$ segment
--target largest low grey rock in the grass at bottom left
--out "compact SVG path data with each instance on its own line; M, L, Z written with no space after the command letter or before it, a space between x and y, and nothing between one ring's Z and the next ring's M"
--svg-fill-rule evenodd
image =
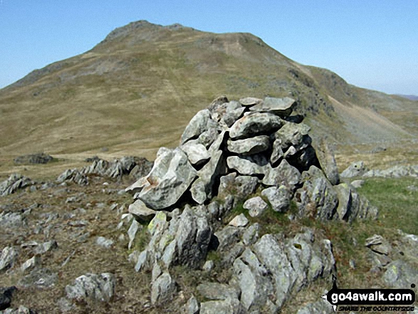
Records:
M75 278L72 285L66 286L66 295L69 299L108 302L115 294L115 283L112 273L86 273Z

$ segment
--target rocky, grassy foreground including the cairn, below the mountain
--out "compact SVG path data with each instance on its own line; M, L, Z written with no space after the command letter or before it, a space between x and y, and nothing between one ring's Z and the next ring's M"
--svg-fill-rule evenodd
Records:
M154 167L93 157L46 182L1 182L0 310L333 313L320 297L335 280L409 288L416 168L359 162L340 182L292 105L219 98Z

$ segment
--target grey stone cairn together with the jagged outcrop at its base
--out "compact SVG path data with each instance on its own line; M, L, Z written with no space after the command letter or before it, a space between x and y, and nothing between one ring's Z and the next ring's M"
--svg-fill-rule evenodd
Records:
M252 217L286 213L291 204L295 219L350 223L377 216L352 186L340 184L330 147L313 148L310 127L291 115L295 105L291 98L217 98L192 118L179 147L161 147L150 173L127 187L135 199L130 247L140 224L150 235L145 250L131 258L136 271L152 271L152 303L174 298L173 266L209 271L208 251L220 253L216 263L233 276L229 284L199 285L209 301L190 298L189 313L276 313L291 293L333 273L330 241L315 239L311 229L291 239L259 237L260 225L244 214L224 221L239 202L246 201Z

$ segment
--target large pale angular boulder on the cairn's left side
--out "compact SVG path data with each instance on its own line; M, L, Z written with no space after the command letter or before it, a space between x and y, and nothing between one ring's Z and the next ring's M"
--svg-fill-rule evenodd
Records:
M138 198L151 209L165 209L182 197L196 176L196 170L182 150L163 150L143 180Z

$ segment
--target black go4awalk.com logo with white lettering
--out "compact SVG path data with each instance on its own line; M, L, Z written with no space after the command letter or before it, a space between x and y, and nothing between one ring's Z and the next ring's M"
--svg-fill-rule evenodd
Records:
M412 289L339 289L334 281L333 288L323 298L335 311L412 312L415 293Z

